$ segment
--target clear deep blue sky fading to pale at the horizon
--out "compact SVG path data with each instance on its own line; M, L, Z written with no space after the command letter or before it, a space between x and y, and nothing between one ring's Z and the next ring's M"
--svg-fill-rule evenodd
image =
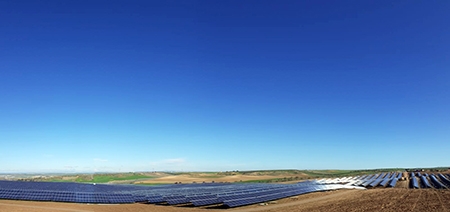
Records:
M0 1L0 172L450 166L450 1Z

